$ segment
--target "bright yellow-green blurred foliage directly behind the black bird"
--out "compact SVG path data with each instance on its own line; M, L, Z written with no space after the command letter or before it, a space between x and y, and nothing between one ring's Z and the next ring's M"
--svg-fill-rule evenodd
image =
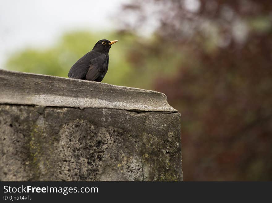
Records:
M15 53L6 63L9 70L47 74L67 77L70 67L84 54L91 51L94 44L101 38L115 40L112 33L74 32L62 36L52 47L44 50L25 49ZM130 63L126 61L126 49L133 44L135 36L123 36L112 46L109 52L109 69L103 82L126 85L126 77L132 72Z

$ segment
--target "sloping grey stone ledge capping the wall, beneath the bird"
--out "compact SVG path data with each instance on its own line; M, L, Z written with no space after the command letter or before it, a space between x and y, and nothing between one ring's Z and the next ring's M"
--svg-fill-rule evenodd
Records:
M0 104L177 112L156 91L7 70L0 70Z

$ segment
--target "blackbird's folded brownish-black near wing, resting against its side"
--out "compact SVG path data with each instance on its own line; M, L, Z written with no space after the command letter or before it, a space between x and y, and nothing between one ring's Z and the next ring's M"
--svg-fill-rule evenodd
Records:
M107 61L106 55L100 55L92 59L91 65L89 66L89 70L86 74L86 80L94 81L101 74L103 74L108 66L106 61Z

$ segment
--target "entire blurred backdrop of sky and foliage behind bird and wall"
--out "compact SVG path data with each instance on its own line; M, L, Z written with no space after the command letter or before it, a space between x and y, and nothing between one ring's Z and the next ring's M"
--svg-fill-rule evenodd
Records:
M0 68L67 77L119 40L103 82L181 113L185 181L272 180L272 1L1 1Z

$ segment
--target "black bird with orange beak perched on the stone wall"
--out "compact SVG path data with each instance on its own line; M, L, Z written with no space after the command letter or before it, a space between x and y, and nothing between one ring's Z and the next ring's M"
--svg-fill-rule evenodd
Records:
M94 48L70 69L69 78L101 82L108 70L108 52L118 40L99 40Z

